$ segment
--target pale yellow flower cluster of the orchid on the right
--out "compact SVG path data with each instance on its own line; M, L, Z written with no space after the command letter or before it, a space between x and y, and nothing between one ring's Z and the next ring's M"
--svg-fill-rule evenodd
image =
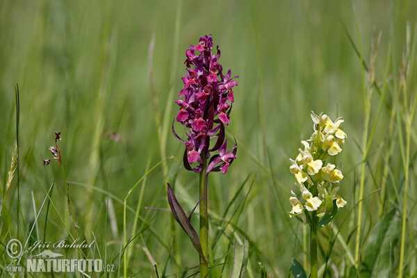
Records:
M290 197L292 210L290 217L300 215L305 222L304 210L318 211L318 216L332 213L332 202L336 200L336 206L345 206L346 201L336 195L339 187L338 183L343 179L341 169L336 165L327 163L325 160L329 156L336 156L342 149L347 138L346 133L340 127L343 120L339 117L332 122L329 116L311 113L314 132L311 138L302 141L303 149L299 149L295 160L290 158L290 172L297 180L297 186L301 191L301 198L291 190Z

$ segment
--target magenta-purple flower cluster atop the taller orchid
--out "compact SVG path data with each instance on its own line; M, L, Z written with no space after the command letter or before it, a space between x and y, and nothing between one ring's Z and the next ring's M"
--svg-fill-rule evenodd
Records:
M231 106L234 95L231 90L238 85L231 77L231 70L222 74L222 65L218 63L220 49L212 54L213 38L211 35L199 39L199 44L186 51L187 75L183 76L184 87L179 92L176 103L179 113L175 120L181 122L190 133L186 133L188 140L177 136L172 126L174 136L186 145L183 163L187 170L201 172L205 161L210 158L210 152L219 151L211 157L207 172L227 172L230 163L236 158L237 146L227 151L227 140L224 140L224 125L230 122ZM215 139L210 148L210 140ZM198 163L192 167L193 163Z

